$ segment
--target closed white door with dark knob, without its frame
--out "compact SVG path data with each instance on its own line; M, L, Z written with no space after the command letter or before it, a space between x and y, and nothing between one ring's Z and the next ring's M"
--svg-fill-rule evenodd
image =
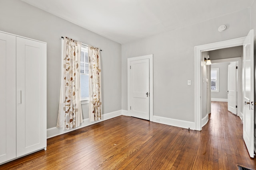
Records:
M149 120L149 59L130 61L130 116Z

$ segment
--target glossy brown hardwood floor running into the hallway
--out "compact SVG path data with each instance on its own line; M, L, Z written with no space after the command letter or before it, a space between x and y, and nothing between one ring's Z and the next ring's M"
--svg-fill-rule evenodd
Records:
M256 169L242 138L242 121L226 102L212 102L202 131L118 116L47 140L47 150L0 169Z

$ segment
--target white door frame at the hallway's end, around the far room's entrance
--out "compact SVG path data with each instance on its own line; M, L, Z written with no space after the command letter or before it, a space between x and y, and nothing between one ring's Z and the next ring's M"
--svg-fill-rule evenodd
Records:
M237 115L243 119L243 115L241 115L241 57L234 57L234 58L229 58L229 59L218 59L218 60L211 60L212 64L217 64L217 63L228 63L228 62L237 62Z

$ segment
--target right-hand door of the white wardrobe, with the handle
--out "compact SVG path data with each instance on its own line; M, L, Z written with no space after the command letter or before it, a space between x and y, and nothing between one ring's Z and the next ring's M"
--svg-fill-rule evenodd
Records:
M17 37L17 157L46 147L46 43Z

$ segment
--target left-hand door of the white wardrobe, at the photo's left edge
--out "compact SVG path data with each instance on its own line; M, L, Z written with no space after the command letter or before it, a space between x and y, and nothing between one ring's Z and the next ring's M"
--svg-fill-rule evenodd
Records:
M16 158L16 36L0 33L0 163Z

